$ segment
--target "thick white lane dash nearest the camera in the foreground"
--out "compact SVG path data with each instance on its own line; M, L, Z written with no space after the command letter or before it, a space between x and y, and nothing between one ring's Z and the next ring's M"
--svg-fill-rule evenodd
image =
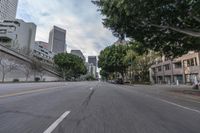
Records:
M56 127L69 115L70 111L66 111L64 114L62 114L47 130L45 130L43 133L52 133L53 130L56 129Z

